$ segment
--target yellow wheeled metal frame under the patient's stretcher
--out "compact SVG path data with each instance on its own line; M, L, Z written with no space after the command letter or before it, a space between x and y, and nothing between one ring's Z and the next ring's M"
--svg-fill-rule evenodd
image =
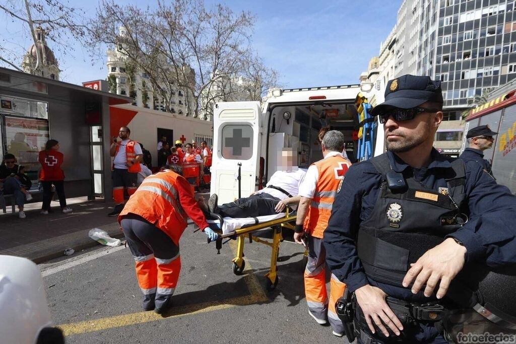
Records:
M286 211L286 215L280 219L271 220L263 223L257 223L254 225L246 226L243 228L239 228L238 230L235 230L233 232L219 235L219 239L222 240L224 238L232 238L237 239L237 249L236 249L236 257L232 259L233 261L233 273L235 275L241 275L244 272L246 262L244 260L244 243L246 240L246 237L249 238L249 240L256 241L262 244L265 244L269 246L272 249L271 256L270 256L270 268L269 272L265 274L266 277L266 289L268 291L272 291L276 288L278 285L278 269L277 269L277 262L278 262L278 254L280 250L280 243L283 241L283 235L281 233L281 228L289 228L291 230L294 230L295 224L296 224L296 215L290 215L288 212L288 209ZM261 231L265 228L271 227L273 231L272 235L272 241L264 240L262 238L259 238L257 236L253 236L252 233L256 231ZM217 247L220 247L221 245L217 245ZM305 256L308 255L308 252L305 251Z

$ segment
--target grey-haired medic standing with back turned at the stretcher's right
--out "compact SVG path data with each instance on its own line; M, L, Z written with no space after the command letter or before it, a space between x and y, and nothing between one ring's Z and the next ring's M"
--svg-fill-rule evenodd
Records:
M335 312L335 302L343 296L346 285L332 274L330 298L326 291L326 251L322 236L328 225L338 186L351 166L342 155L344 135L337 130L326 133L321 142L324 158L313 163L299 186L301 200L297 210L294 240L308 247L304 270L304 292L308 312L319 324L328 321L333 334L342 337L344 327Z

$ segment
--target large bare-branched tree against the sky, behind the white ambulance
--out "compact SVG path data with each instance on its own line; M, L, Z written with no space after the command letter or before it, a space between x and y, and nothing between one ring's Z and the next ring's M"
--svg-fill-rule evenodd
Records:
M206 8L201 0L159 1L156 9L105 0L96 17L90 24L91 43L117 47L149 76L168 111L173 92L185 91L185 115L194 117L201 95L238 72L248 56L253 23L248 12L234 13L223 5Z

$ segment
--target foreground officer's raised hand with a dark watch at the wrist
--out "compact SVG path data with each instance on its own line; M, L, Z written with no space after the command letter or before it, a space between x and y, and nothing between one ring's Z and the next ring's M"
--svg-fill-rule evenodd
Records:
M434 288L439 285L437 298L441 299L448 291L451 280L462 270L465 261L466 248L447 238L436 247L428 250L411 268L403 279L403 286L408 287L412 281L412 292L415 294L426 284L425 296L431 296ZM440 283L439 283L440 282Z

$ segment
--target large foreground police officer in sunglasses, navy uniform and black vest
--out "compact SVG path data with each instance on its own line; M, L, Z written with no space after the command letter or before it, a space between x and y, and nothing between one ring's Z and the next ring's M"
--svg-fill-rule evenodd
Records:
M446 342L443 298L463 266L516 262L516 199L432 147L442 106L440 81L390 80L373 109L388 152L352 165L335 197L326 260L354 292L359 342Z

